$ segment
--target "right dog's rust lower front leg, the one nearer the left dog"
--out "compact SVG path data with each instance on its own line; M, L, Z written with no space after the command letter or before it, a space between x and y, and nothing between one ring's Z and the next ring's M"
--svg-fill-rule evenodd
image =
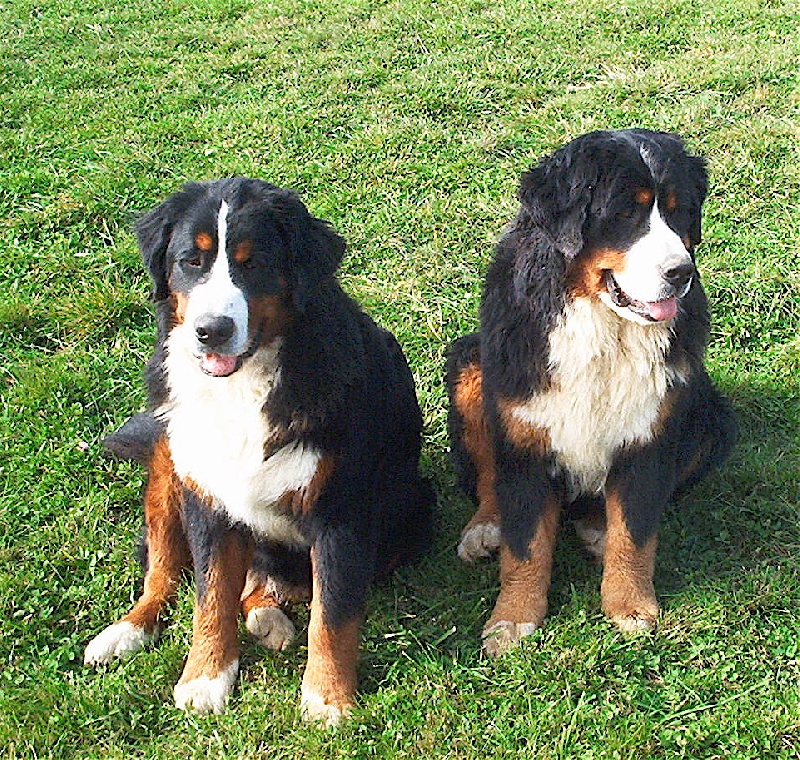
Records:
M483 649L495 657L532 634L547 614L560 504L551 496L539 518L528 559L500 547L500 595L483 629Z

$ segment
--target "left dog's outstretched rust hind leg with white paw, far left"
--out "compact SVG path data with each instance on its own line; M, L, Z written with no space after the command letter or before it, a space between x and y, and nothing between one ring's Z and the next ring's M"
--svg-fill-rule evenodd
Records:
M158 633L160 618L175 595L189 564L189 547L181 525L181 491L169 446L159 439L148 462L144 497L147 565L144 589L130 612L89 642L86 665L102 665L132 654Z

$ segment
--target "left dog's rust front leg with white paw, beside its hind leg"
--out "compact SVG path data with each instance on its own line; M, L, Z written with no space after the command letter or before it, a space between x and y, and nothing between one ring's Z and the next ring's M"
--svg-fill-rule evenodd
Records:
M192 647L175 686L175 704L182 709L225 709L239 670L239 602L251 554L250 542L235 531L212 552L206 591L195 606Z

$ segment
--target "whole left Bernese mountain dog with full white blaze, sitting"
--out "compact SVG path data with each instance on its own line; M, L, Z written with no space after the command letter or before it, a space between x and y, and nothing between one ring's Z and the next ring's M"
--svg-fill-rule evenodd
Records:
M310 595L301 708L334 724L353 705L368 587L430 527L405 357L342 291L344 241L293 192L242 178L188 184L136 232L159 325L151 413L110 448L148 467L147 566L138 603L85 661L143 646L191 563L178 707L224 709L240 607L251 632L283 648L294 626L282 605Z

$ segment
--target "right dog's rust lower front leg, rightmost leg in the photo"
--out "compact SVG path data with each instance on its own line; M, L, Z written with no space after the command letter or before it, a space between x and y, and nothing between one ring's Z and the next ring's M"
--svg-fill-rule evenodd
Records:
M651 631L658 617L653 571L658 538L637 546L616 494L606 498L606 547L601 597L603 611L621 631Z

